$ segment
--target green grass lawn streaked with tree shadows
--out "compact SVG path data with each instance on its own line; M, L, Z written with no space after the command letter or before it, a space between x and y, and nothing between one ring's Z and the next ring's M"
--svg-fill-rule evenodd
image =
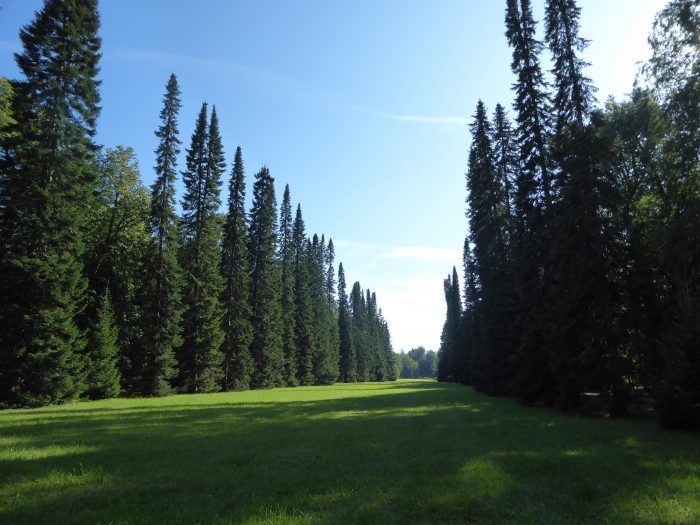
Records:
M11 410L0 523L700 523L700 436L432 381Z

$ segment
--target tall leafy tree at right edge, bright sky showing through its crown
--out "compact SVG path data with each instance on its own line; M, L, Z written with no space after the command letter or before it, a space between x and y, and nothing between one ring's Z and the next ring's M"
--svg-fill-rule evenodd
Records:
M660 207L654 246L662 253L669 323L661 337L666 368L661 424L700 429L700 8L673 0L654 22L646 74L661 103L663 158L652 195ZM652 226L653 228L653 226ZM653 230L652 230L653 231Z

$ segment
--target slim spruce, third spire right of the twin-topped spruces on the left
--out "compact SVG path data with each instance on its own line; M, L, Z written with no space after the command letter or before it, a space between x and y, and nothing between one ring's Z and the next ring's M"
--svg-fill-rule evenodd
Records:
M294 237L292 223L292 202L289 195L289 184L284 188L282 207L280 208L279 226L279 260L282 267L282 322L284 330L282 341L284 346L284 377L289 386L297 382L297 352L296 352L296 311L294 288L296 275L294 273Z

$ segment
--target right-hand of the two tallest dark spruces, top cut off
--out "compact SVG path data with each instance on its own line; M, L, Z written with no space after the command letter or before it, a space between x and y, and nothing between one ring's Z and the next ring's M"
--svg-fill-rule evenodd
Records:
M556 88L552 158L558 165L559 194L549 235L547 340L560 408L577 407L579 394L590 391L610 393L610 401L624 407L606 260L611 250L599 216L605 203L598 159L608 148L587 125L594 99L590 80L583 75L587 64L577 56L587 46L578 36L579 16L574 0L547 2L546 40Z

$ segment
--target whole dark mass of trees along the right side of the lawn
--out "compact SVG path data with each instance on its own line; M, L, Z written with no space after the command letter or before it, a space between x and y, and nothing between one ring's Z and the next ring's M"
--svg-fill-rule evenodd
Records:
M507 1L514 123L476 106L438 378L564 411L647 399L698 430L700 2L667 4L631 95L603 108L580 12L547 0L540 42L530 1Z

